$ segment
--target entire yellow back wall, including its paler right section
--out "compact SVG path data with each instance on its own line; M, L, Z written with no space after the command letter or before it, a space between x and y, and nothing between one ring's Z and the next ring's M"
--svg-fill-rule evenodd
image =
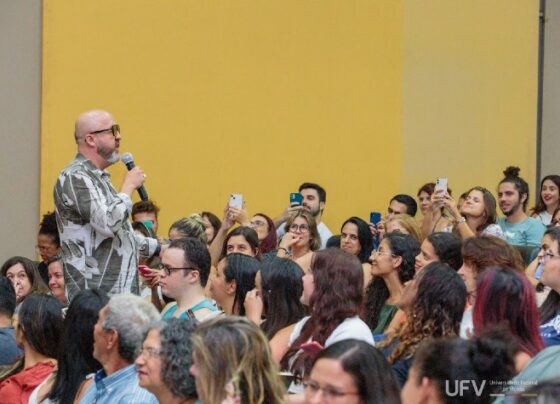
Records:
M494 189L515 163L533 185L538 0L43 4L41 211L91 108L164 230L232 192L275 215L306 180L335 232L437 176Z

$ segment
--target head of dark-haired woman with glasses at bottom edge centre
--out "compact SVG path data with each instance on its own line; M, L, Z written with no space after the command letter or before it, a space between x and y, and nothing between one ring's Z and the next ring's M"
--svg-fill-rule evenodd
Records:
M347 339L315 359L305 383L306 404L400 403L389 363L370 344Z

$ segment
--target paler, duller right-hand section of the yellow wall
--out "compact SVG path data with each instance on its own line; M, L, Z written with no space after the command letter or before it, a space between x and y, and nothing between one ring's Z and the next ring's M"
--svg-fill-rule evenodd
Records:
M517 165L534 195L538 0L406 0L404 10L402 189L441 176L456 196L495 191Z

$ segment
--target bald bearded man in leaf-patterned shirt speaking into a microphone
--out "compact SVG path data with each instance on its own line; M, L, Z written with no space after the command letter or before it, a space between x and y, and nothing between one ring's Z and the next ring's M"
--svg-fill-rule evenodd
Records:
M146 178L135 167L120 192L106 168L119 160L120 127L101 110L84 112L74 133L78 154L60 173L54 203L68 300L83 289L140 293L138 256L159 254L157 240L138 236L128 217L131 195Z

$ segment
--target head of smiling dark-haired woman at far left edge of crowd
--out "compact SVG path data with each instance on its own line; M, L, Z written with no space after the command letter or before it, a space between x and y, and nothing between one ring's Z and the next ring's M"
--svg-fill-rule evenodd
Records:
M8 258L2 265L0 273L14 285L18 304L31 293L49 291L37 271L37 266L28 258L19 256Z

